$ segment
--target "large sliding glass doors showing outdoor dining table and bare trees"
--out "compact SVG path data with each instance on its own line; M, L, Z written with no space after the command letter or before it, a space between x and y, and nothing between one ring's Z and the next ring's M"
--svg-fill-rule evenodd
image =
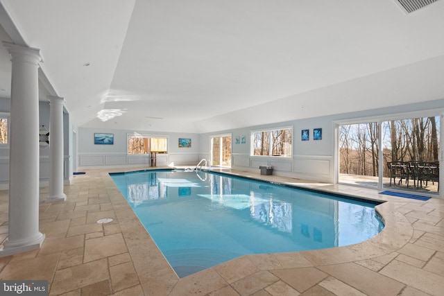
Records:
M439 116L340 124L338 136L339 182L438 193Z

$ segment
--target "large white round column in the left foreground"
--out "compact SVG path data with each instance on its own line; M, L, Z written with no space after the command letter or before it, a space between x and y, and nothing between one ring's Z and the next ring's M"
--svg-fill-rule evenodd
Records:
M0 256L39 249L40 50L3 42L12 56L8 240Z

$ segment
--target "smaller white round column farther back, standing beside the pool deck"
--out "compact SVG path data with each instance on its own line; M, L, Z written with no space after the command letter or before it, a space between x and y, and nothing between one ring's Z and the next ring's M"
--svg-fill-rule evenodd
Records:
M65 201L63 193L63 98L49 99L49 195L46 202Z

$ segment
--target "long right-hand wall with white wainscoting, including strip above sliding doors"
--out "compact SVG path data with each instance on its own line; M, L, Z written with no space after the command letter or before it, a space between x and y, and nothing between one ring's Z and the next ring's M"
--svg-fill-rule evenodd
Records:
M357 102L359 103L359 102ZM425 103L400 105L375 110L335 114L311 119L300 119L255 125L248 128L221 130L218 132L200 134L200 157L210 159L210 137L214 134L232 133L232 168L241 171L259 173L259 166L273 166L273 175L296 177L318 182L334 182L335 175L335 128L337 122L350 122L368 118L393 118L407 116L430 116L430 112L438 116L444 110L444 100L428 101ZM427 115L422 115L427 114ZM268 128L293 127L293 157L266 157L250 155L250 132ZM313 140L313 129L322 128L322 140ZM302 130L309 130L309 141L301 141ZM245 144L236 144L237 136L246 136ZM441 135L444 137L444 135Z

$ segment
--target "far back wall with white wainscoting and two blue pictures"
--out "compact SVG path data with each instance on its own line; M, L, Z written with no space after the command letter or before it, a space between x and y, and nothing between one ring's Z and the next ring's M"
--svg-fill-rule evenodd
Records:
M114 144L95 145L94 133L114 134ZM78 128L78 159L77 171L87 168L115 168L115 167L142 167L150 166L150 155L128 155L127 154L127 135L144 134L151 136L168 137L168 153L157 155L157 166L168 166L172 162L176 166L195 165L198 162L199 155L199 137L198 134L178 133L178 132L145 132L141 130L112 130L97 128ZM190 148L179 148L178 139L191 139Z

